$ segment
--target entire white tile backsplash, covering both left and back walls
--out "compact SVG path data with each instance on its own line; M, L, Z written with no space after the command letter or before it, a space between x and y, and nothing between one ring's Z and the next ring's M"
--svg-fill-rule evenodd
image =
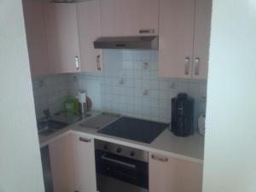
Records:
M178 92L186 92L195 99L195 119L205 112L207 81L161 78L158 51L105 49L103 55L101 74L76 73L34 79L37 114L44 108L59 110L67 96L89 87L97 109L109 112L170 122L171 99ZM40 80L44 86L37 89ZM95 83L99 85L93 85Z

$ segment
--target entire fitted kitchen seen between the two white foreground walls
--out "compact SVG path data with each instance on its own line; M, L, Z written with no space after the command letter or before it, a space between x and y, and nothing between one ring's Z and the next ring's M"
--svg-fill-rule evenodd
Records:
M38 122L67 123L39 134L46 191L201 191L212 2L24 0L23 8ZM84 91L84 121L61 113ZM179 93L194 100L189 137L169 130ZM130 125L128 134L101 132L115 123ZM149 140L133 136L143 127Z

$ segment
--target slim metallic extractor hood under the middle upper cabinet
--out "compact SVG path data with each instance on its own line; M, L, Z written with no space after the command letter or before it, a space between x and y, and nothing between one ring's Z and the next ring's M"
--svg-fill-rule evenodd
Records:
M96 49L158 49L157 36L98 38Z

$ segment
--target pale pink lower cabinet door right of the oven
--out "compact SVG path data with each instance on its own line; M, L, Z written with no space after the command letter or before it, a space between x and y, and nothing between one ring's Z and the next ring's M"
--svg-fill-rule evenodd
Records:
M150 154L149 192L201 192L201 188L201 164Z

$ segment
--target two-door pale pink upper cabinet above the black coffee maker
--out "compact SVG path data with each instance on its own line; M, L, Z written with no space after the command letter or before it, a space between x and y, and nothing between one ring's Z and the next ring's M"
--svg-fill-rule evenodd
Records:
M207 79L211 0L160 0L160 75Z

